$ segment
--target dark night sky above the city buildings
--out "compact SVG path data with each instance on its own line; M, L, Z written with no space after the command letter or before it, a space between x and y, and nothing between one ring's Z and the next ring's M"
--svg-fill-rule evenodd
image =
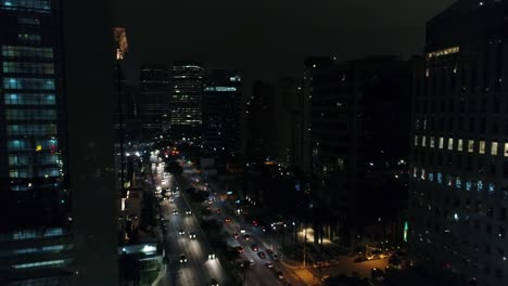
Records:
M127 78L142 63L202 61L251 78L300 76L308 55L422 52L426 22L455 0L113 0Z

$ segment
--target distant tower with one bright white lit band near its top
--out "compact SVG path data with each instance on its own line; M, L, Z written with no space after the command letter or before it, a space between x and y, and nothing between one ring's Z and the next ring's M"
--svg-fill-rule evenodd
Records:
M238 70L208 73L202 101L205 156L226 158L240 154L241 84Z

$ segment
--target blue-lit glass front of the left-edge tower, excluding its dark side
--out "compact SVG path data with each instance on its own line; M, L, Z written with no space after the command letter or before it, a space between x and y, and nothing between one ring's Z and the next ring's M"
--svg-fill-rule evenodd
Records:
M0 2L2 285L72 273L61 16L60 1Z

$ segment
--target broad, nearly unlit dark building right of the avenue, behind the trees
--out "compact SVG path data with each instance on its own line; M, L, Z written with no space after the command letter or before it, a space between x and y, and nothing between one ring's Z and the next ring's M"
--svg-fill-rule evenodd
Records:
M335 238L339 231L347 240L380 218L395 220L389 212L405 207L405 200L392 207L401 197L395 190L407 192L392 181L408 156L410 66L394 56L314 57L305 65L313 205L329 210L322 234Z

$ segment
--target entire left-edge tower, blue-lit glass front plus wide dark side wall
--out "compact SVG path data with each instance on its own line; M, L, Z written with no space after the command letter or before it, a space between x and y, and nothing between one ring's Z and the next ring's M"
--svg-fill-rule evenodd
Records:
M110 13L0 0L0 285L117 283Z

